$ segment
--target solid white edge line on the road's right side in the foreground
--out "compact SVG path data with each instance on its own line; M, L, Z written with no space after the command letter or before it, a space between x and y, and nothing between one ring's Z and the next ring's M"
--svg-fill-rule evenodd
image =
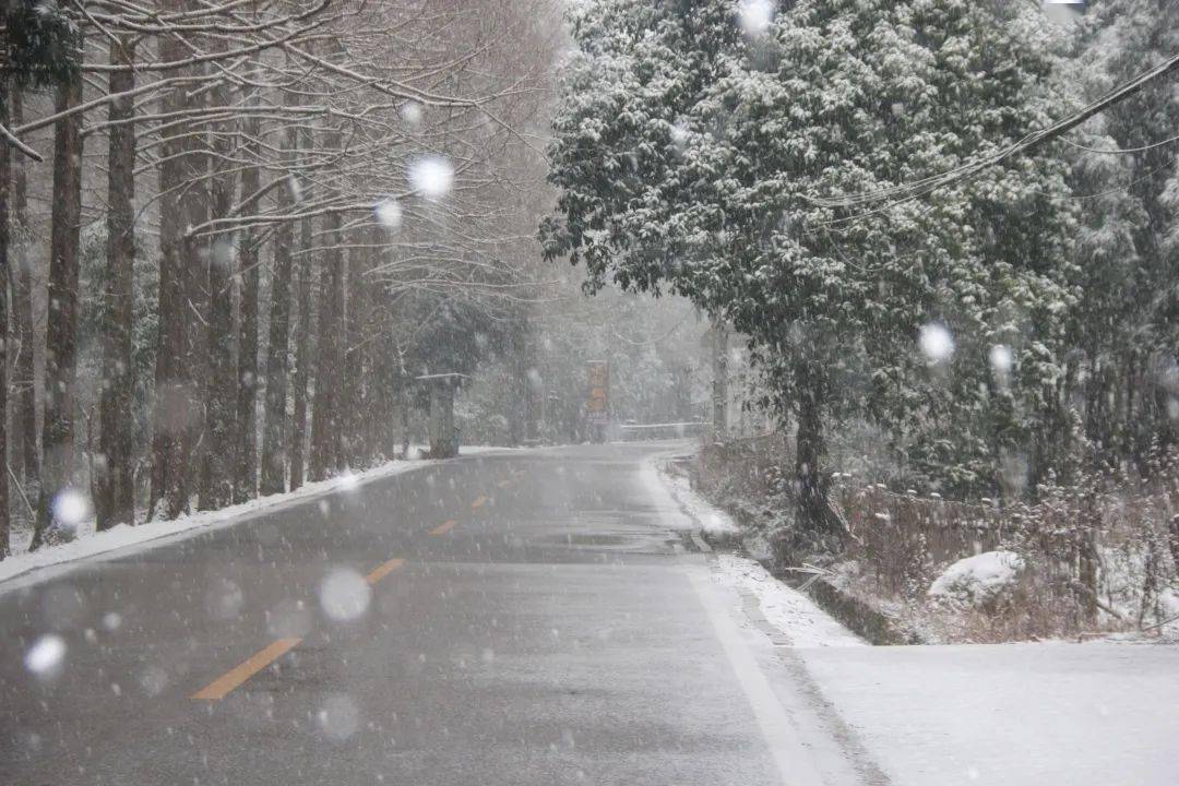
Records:
M689 568L687 577L692 582L696 596L700 599L700 606L704 607L712 622L712 629L720 641L720 647L729 659L737 682L745 692L749 706L762 729L762 737L778 767L783 786L819 786L823 782L822 775L815 768L811 755L799 741L798 732L790 721L786 711L778 702L778 698L775 695L770 681L762 673L757 659L742 640L740 629L717 600L717 589L709 575L699 569Z

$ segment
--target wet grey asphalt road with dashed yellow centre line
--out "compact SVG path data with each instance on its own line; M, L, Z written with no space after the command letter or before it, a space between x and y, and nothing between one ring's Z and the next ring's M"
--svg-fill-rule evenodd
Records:
M0 584L0 784L861 782L674 531L667 448L460 458Z

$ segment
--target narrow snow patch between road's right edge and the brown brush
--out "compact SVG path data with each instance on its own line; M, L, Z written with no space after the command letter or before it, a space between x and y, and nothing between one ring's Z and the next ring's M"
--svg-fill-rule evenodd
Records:
M736 554L718 554L713 576L742 596L755 597L766 622L780 630L793 647L867 646L810 597L770 575L759 562Z

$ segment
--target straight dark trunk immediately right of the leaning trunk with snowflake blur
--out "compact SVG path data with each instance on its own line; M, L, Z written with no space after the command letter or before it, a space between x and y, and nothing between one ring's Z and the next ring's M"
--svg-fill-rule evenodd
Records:
M130 37L111 42L111 64L134 62ZM112 71L110 91L120 93L134 87L133 71ZM98 529L119 523L133 524L134 445L129 422L134 403L134 374L131 361L134 319L133 270L134 229L134 101L130 98L110 105L110 157L107 166L106 213L106 303L108 321L103 331L103 388L99 402L99 453L94 513Z

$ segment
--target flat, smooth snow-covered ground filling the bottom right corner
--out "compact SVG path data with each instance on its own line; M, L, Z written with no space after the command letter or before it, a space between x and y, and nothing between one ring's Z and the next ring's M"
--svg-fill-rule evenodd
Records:
M1179 647L802 649L898 786L1174 786Z

